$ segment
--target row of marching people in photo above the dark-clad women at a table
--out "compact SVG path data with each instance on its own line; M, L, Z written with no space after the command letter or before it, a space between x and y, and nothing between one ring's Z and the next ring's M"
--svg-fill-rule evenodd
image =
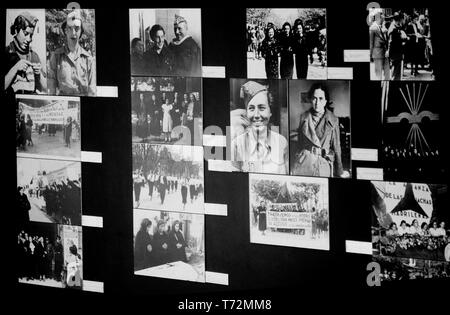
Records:
M142 171L137 169L133 173L134 200L136 203L136 208L140 205L141 189L145 185L148 187L148 198L153 200L153 197L159 197L161 205L164 204L166 196L176 194L180 191L179 196L181 196L183 210L188 202L188 196L190 203L193 203L197 200L199 195L204 192L202 181L198 177L165 175L164 173L158 171L149 172L145 176Z

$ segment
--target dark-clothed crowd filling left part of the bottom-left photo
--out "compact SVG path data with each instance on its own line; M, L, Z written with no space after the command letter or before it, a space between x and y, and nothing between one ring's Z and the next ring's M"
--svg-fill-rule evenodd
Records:
M48 237L22 230L17 236L16 257L19 279L63 280L64 249L59 236L53 243Z

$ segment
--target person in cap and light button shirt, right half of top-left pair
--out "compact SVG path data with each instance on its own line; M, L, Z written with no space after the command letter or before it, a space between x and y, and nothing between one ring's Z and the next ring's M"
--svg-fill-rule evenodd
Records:
M79 10L67 15L61 25L65 45L56 49L48 66L48 90L58 95L96 95L95 60L80 45L83 23Z

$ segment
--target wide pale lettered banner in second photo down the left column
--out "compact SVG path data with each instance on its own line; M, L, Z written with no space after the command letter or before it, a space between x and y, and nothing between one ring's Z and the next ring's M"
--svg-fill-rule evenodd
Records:
M67 107L68 103L66 101L56 101L39 108L33 108L24 103L19 103L19 108L21 111L25 114L25 116L30 115L33 123L35 124L63 125L64 119L68 116ZM73 110L70 111L71 115L74 113L75 112ZM77 116L72 118L76 119Z

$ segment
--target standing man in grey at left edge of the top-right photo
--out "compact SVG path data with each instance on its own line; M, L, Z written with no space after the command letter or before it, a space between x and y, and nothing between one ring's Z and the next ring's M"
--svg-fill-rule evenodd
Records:
M383 25L383 11L374 9L371 13L373 22L369 27L370 61L374 63L375 79L390 80L390 65L388 58L388 35Z

